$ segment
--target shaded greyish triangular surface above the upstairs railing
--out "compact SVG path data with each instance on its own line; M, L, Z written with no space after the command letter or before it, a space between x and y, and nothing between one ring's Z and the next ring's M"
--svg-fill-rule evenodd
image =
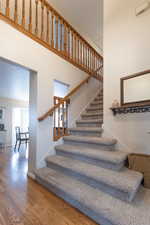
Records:
M48 0L85 38L102 48L103 0Z

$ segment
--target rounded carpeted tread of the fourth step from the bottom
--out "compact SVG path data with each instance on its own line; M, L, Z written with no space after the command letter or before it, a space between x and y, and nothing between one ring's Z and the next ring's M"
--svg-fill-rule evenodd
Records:
M104 138L104 137L83 137L77 135L70 135L63 138L65 141L79 142L79 143L89 143L97 145L115 145L117 143L116 139Z

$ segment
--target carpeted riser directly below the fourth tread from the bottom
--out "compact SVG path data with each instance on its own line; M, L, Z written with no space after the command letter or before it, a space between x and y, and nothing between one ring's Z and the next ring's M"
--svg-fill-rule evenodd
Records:
M83 146L83 147L88 147L88 148L93 148L93 149L101 149L104 151L114 151L114 149L115 149L114 145L106 146L106 145L102 145L102 144L90 144L90 143L66 141L66 140L64 140L64 144L75 145L75 146L80 146L80 147Z

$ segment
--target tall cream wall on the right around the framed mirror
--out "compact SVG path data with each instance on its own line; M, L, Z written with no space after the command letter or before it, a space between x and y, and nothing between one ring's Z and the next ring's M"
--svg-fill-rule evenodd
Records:
M150 10L139 17L141 0L104 1L104 127L123 150L150 154L150 113L114 117L110 107L120 101L120 78L150 69Z

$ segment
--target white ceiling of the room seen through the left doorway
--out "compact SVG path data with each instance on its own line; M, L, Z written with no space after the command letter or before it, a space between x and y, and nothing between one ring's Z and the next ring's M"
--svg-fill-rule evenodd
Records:
M29 100L29 71L0 59L0 97Z

